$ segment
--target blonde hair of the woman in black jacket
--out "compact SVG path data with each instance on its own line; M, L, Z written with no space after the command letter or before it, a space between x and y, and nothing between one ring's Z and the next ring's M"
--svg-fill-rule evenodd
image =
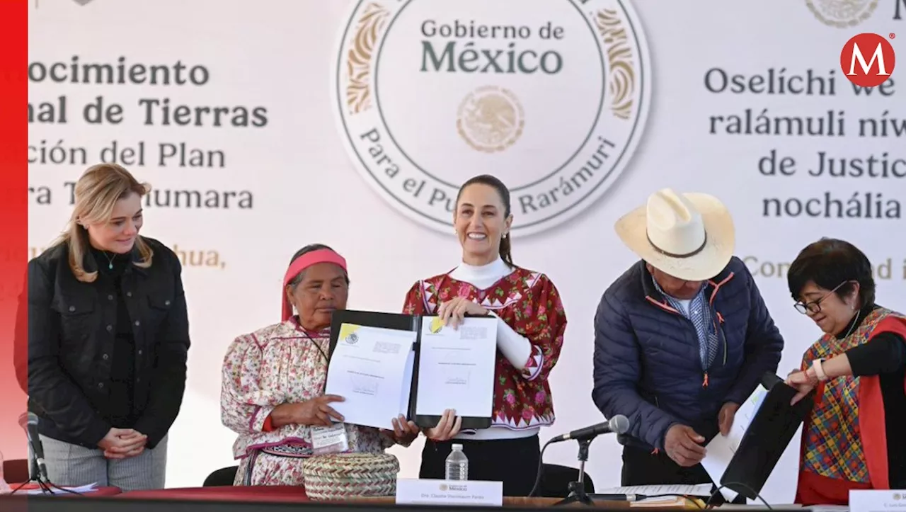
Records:
M72 217L60 237L53 242L53 246L69 245L69 267L76 279L82 283L93 283L98 278L97 272L86 272L84 267L91 245L87 225L109 222L113 207L120 198L131 194L144 197L150 189L149 184L140 183L128 170L114 163L97 164L85 170L75 184ZM141 268L151 266L154 251L144 238L136 237L135 246L141 259L132 262L133 265Z

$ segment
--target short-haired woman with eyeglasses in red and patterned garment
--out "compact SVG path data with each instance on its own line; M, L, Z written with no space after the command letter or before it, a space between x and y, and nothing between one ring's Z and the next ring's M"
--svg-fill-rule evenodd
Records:
M875 303L861 250L822 238L789 268L795 308L824 335L786 382L815 391L795 502L848 505L853 489L906 488L906 316Z

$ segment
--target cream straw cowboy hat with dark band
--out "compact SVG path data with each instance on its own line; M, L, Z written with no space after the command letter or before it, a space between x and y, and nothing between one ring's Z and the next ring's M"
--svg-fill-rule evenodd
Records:
M718 198L662 188L616 223L617 235L651 266L705 281L727 266L736 245L733 218Z

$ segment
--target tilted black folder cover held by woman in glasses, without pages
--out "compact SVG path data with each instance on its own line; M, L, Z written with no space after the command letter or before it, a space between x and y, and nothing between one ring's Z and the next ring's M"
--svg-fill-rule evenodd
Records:
M761 493L795 431L814 406L814 391L791 406L795 389L772 372L765 373L761 385L767 390L765 399L718 484L749 499L756 499Z

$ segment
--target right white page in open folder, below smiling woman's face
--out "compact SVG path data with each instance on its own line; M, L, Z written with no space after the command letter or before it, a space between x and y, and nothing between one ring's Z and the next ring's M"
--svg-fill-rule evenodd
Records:
M456 329L426 316L421 325L415 411L489 418L494 409L497 319L467 317Z

